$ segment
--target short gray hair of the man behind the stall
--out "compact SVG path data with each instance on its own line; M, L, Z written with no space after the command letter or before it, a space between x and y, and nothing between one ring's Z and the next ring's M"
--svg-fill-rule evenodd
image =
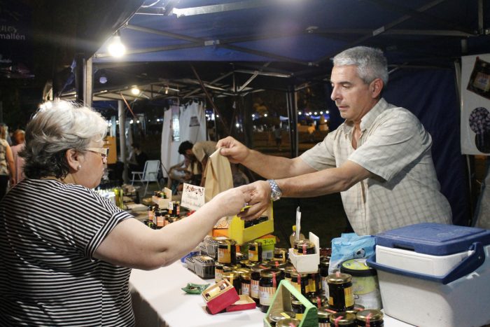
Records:
M333 57L334 66L357 66L359 77L369 84L376 78L381 78L384 85L388 84L388 64L383 51L377 48L357 46L342 51Z

